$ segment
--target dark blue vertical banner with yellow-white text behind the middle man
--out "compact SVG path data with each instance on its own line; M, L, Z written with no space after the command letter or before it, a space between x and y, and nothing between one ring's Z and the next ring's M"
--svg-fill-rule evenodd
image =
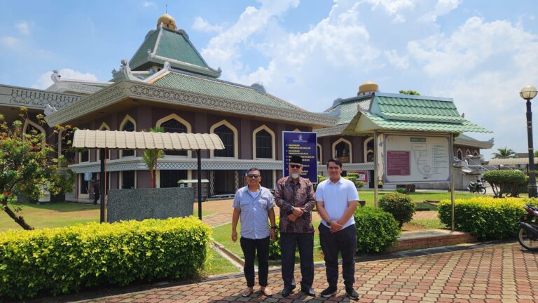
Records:
M312 132L282 132L284 151L284 177L289 175L288 163L291 156L301 156L303 173L301 177L317 183L317 134Z

